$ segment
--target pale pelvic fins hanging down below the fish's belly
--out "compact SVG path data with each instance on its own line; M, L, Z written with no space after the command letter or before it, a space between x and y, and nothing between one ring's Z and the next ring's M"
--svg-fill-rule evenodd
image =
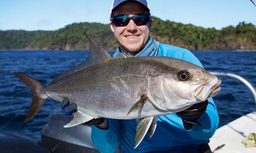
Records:
M141 143L143 138L146 136L146 133L151 137L156 128L157 117L143 118L137 120L137 129L135 136L135 148Z

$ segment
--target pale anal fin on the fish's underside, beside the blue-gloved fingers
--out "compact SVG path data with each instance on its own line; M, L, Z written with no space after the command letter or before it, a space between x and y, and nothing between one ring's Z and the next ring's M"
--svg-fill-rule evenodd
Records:
M72 121L70 121L68 124L66 124L64 127L73 127L79 124L82 124L84 122L88 122L91 119L94 119L94 117L91 117L85 113L82 113L81 111L73 112L74 118Z

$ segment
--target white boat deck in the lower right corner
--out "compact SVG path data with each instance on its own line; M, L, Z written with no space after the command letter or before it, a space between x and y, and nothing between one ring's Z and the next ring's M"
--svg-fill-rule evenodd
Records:
M250 133L256 133L256 111L219 127L210 138L211 151L214 153L256 153L256 147L246 148L242 144L242 140Z

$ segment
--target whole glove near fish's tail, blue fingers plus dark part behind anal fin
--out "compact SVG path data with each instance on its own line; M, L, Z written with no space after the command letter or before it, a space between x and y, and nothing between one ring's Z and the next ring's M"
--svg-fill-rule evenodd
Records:
M67 98L64 98L61 101L61 109L62 109L62 113L64 115L72 115L74 117L73 112L77 111L77 106L76 103L74 102L69 102L69 100ZM83 125L100 125L104 122L105 118L97 118L97 119L91 119L85 123L83 123Z

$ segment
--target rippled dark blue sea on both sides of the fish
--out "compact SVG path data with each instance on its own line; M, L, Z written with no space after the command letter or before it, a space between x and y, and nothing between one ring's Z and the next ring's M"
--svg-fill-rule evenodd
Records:
M192 52L206 70L237 74L256 88L256 52ZM32 94L12 72L23 72L48 85L57 74L81 63L88 55L88 51L0 51L0 132L17 133L40 141L40 130L48 116L61 110L59 102L48 98L38 114L24 123ZM222 91L214 97L219 127L256 110L253 96L245 85L232 78L220 79Z

